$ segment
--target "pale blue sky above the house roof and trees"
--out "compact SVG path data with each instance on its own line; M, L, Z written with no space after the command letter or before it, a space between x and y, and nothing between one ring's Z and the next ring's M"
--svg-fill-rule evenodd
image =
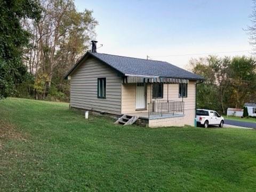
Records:
M252 25L252 0L84 1L99 22L99 53L167 61L188 69L191 58L250 55L244 30ZM226 53L219 53L226 52ZM190 55L187 55L190 54Z

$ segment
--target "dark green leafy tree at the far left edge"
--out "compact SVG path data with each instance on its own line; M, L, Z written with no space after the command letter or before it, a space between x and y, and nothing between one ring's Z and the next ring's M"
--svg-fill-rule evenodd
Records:
M22 49L28 45L30 34L22 28L21 20L38 21L40 12L37 1L0 2L0 99L10 96L15 84L26 79Z

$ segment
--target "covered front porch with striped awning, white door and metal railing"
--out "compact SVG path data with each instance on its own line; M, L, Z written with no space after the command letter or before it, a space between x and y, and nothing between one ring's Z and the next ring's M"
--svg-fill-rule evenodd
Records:
M141 119L184 116L179 83L187 79L127 76L122 84L122 114Z

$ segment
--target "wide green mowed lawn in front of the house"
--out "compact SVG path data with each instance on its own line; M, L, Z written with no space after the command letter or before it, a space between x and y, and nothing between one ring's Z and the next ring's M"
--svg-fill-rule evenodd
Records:
M67 103L0 101L2 191L255 191L256 132L114 125Z

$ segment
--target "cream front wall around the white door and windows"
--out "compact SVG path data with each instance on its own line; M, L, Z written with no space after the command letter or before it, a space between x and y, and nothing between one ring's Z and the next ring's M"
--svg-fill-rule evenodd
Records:
M188 97L183 98L185 102L185 117L186 125L194 125L195 118L195 107L196 107L196 82L189 81L188 84ZM167 91L168 88L168 91ZM150 84L147 85L147 103L150 102L152 93L150 92ZM168 94L167 94L168 92ZM164 84L163 100L175 100L182 101L182 98L179 98L179 84ZM155 99L151 99L154 101ZM157 99L161 100L161 99ZM122 114L125 113L139 113L147 112L147 110L136 111L136 84L122 84ZM183 125L184 125L183 124ZM182 126L183 126L182 125Z

